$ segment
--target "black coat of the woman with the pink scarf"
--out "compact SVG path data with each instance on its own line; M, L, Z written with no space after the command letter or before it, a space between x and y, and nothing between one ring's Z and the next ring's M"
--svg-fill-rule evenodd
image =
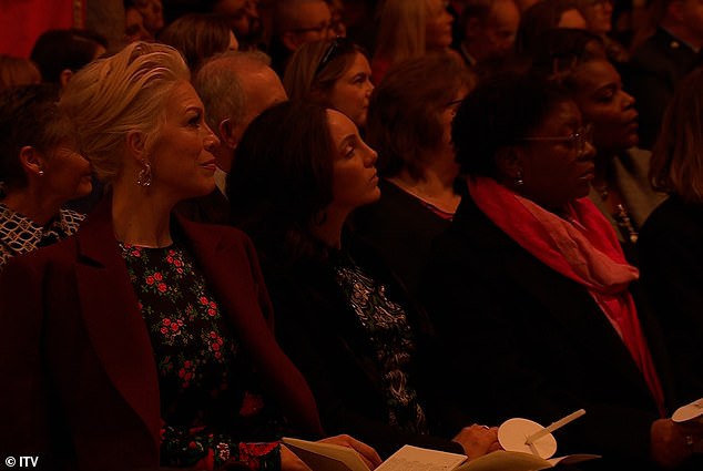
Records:
M436 240L428 274L422 298L445 355L460 359L445 368L444 383L454 385L466 413L485 423L523 417L549 424L584 408L583 418L557 432L559 454L603 454L593 469L649 469L656 405L581 285L520 247L470 196ZM666 391L659 330L639 313Z

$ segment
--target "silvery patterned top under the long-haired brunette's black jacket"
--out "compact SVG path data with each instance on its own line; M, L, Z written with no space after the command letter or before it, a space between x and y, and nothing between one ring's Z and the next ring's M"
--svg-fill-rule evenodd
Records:
M415 344L405 310L388 299L385 285L365 274L347 254L342 254L336 274L338 285L376 350L389 423L409 432L427 433L425 412L408 378Z

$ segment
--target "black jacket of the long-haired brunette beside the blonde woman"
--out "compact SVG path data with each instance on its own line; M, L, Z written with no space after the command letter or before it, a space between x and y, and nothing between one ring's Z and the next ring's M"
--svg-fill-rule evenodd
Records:
M408 315L418 351L410 372L420 405L431 420L431 405L424 392L425 346L429 345L426 317L415 309L399 284L356 239L345 240L357 264L386 284L388 297ZM262 257L264 277L276 313L276 337L303 371L315 395L323 427L328 433L349 433L388 457L406 443L462 453L448 439L407 433L388 426L383 378L376 352L358 317L335 280L329 263L313 257L282 270ZM429 347L428 347L429 348ZM430 423L431 427L431 423ZM458 431L458 430L457 430Z

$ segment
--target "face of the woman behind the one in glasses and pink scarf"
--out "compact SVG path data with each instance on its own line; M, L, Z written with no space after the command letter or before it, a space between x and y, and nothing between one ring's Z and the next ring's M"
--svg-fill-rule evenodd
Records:
M577 72L575 100L583 121L593 124L599 152L620 152L639 142L634 98L622 90L615 68L605 60L587 62Z

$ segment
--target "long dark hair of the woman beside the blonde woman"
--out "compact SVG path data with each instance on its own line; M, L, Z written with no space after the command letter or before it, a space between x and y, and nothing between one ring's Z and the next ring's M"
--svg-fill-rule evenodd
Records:
M333 199L334 149L326 110L309 102L277 104L246 129L226 192L263 259L289 266L319 254L309 227Z

